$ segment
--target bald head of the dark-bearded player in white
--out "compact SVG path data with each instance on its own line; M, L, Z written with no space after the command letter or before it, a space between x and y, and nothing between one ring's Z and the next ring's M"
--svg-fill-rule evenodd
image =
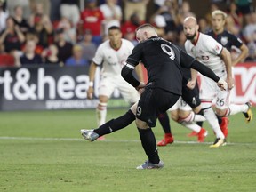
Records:
M193 41L198 34L199 26L195 17L187 17L183 22L183 31L188 40Z

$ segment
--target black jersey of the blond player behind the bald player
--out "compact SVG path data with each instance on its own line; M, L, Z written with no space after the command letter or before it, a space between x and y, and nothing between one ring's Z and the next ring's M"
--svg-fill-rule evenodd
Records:
M224 30L221 34L215 34L213 31L210 31L207 33L207 35L212 36L212 38L214 38L218 43L222 44L223 47L228 49L229 52L232 46L240 48L243 44L240 38L228 33L226 30Z

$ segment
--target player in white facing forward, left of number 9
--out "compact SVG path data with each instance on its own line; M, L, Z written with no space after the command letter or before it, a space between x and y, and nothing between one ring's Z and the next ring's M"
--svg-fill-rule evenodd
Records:
M119 27L108 28L108 40L98 47L89 69L90 84L87 98L92 99L93 81L98 66L102 66L99 85L99 104L96 108L98 126L104 124L107 116L107 103L111 94L117 88L124 100L135 103L140 99L140 94L131 84L127 84L121 76L121 70L127 57L131 54L133 44L122 38ZM137 75L142 82L142 68L138 66Z

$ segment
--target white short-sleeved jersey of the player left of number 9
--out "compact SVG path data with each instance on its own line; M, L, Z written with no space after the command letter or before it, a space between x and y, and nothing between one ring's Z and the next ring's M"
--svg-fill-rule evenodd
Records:
M122 38L122 45L118 50L114 50L109 40L100 44L92 61L96 65L102 64L102 76L121 76L121 70L128 56L132 53L134 45Z

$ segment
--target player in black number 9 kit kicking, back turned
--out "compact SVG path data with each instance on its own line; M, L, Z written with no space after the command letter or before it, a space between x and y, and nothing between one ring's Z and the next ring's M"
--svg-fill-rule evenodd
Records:
M164 167L164 163L158 156L156 138L151 127L156 125L157 115L171 108L179 99L182 89L181 68L198 70L215 81L220 89L227 89L227 83L180 48L158 37L155 28L150 24L137 28L136 37L140 44L132 50L121 75L141 93L135 122L148 160L137 169L158 169ZM140 61L148 71L147 84L140 83L132 75ZM111 124L109 125L112 129ZM93 130L83 130L82 135L85 140L93 141L97 138Z

